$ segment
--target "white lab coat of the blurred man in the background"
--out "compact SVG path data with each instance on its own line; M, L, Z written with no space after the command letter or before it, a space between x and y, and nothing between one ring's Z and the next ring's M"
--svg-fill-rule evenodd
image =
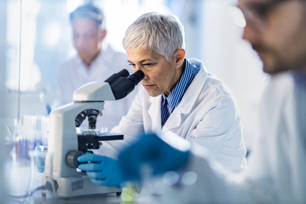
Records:
M57 99L54 106L63 105L72 101L73 91L81 85L91 81L104 81L111 74L121 69L127 69L127 56L124 53L114 51L109 45L103 43L102 50L87 67L76 54L73 58L64 62L57 73ZM116 101L105 101L103 115L98 117L97 126L108 127L108 131L125 115L130 107L136 91L131 92L125 98ZM84 124L86 125L85 120Z

